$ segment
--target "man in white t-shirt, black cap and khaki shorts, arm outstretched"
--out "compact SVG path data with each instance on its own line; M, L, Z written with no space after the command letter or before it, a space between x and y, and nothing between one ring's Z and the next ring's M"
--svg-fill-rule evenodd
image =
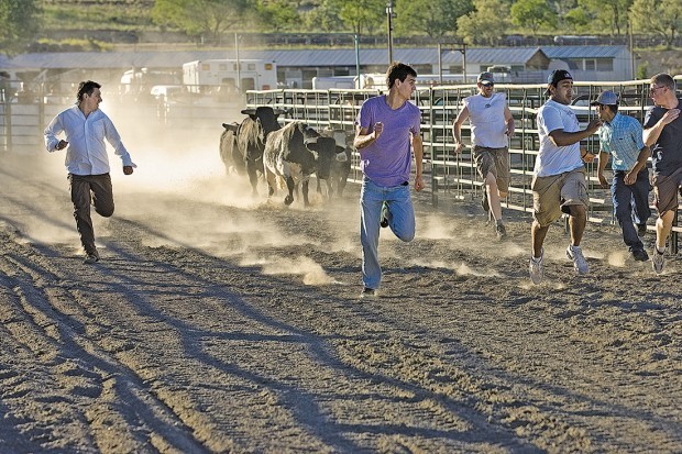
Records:
M544 275L542 244L547 231L562 213L569 214L571 230L566 256L573 261L573 268L579 275L590 272L580 242L587 224L590 201L583 162L592 162L594 155L583 152L580 141L594 134L602 124L595 119L586 129L580 130L578 118L569 107L573 99L573 77L568 70L553 70L547 84L550 99L538 111L540 150L531 182L534 221L529 268L534 284L540 284Z

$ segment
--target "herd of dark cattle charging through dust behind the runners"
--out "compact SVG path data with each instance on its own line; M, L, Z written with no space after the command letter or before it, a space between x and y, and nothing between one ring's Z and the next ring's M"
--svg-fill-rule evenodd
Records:
M249 176L252 192L257 195L258 175L268 185L268 197L278 188L287 190L285 204L294 202L301 188L306 207L310 177L317 177L317 191L327 197L343 196L351 171L353 134L329 129L320 132L301 121L280 126L277 117L283 111L271 107L245 109L241 123L222 123L220 158L226 171Z

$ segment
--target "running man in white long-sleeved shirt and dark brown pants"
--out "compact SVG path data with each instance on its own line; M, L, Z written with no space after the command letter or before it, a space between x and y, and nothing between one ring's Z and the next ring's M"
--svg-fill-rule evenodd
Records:
M101 86L92 80L80 82L76 104L59 112L45 129L45 148L48 152L68 146L65 164L74 202L74 218L86 253L86 264L99 261L90 203L102 217L113 214L113 191L105 139L121 157L123 174L131 175L133 167L136 167L113 123L99 110L99 103L102 102L100 88ZM65 134L65 140L58 137L62 133Z

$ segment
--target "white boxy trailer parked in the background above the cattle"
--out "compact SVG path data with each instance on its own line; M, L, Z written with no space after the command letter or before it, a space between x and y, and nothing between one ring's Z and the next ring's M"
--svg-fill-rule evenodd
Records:
M277 88L277 65L263 59L205 59L183 65L189 92L271 90Z

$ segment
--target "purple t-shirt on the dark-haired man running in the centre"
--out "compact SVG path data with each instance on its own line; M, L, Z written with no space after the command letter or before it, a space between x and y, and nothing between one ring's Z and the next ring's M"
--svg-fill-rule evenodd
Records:
M356 125L371 134L375 123L384 123L382 135L360 150L360 168L373 182L391 187L409 181L410 133L419 134L420 118L419 108L411 102L391 109L385 95L370 98L362 104Z

